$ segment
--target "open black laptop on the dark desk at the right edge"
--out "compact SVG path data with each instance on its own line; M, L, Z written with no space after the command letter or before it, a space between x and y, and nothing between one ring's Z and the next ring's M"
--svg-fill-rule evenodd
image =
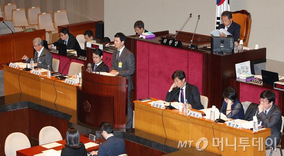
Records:
M284 77L278 76L278 73L261 70L262 81L265 84L273 85L274 82L284 82Z

